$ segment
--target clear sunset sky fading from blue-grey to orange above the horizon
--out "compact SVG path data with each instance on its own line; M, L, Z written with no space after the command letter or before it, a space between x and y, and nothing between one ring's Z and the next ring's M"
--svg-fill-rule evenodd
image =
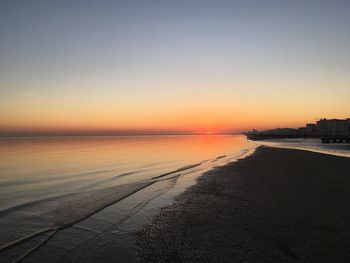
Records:
M0 134L350 117L350 1L0 2Z

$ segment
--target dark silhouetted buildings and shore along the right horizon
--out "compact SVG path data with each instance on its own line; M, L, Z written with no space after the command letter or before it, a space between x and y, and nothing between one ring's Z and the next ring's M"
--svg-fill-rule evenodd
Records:
M280 138L320 138L323 143L350 143L350 118L320 119L298 129L278 128L266 131L253 130L245 133L250 140Z

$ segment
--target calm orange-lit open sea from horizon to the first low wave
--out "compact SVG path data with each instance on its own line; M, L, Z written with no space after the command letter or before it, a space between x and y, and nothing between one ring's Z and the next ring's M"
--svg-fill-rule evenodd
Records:
M249 147L225 135L0 139L0 210L149 180Z

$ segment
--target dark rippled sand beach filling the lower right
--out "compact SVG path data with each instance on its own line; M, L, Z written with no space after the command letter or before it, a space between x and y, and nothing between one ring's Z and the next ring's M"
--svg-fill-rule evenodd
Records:
M350 262L350 158L260 147L138 234L142 262Z

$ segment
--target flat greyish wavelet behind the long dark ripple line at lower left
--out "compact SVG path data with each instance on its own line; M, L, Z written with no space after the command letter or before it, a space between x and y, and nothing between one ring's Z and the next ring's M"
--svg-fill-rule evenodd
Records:
M124 184L76 195L49 200L38 200L35 205L22 204L21 221L17 222L17 209L2 214L0 222L0 252L11 244L18 244L48 230L61 229L98 213L107 206L150 186L154 181ZM14 212L14 213L11 213ZM24 215L24 216L23 216ZM8 224L12 222L11 224ZM36 222L40 222L37 224ZM12 235L12 233L18 235Z

